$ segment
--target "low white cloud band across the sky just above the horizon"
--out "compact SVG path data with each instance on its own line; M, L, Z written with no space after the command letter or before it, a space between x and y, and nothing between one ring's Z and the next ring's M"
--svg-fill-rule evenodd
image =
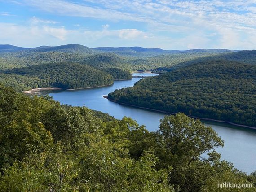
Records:
M0 23L0 42L23 47L36 47L39 45L55 46L60 44L83 44L88 47L100 46L142 46L163 49L193 49L193 48L230 48L255 49L256 33L244 40L239 33L230 29L219 28L218 33L204 35L191 33L182 38L153 35L137 29L110 30L67 30L65 27L53 26L22 26L10 23ZM211 39L218 36L220 42ZM209 44L212 47L207 47Z

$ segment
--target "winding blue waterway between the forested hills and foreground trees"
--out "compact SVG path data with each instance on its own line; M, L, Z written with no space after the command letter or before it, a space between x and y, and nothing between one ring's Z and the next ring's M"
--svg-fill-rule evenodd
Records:
M157 74L134 73L134 76L153 76ZM159 120L163 118L164 113L154 112L146 109L135 108L127 105L120 105L111 102L103 95L107 95L115 89L132 87L135 82L141 78L132 78L131 80L115 81L108 87L97 87L79 90L56 90L48 92L54 100L62 104L73 106L86 106L90 109L109 113L117 119L124 116L131 117L138 124L145 125L149 131L156 131L159 127ZM243 127L232 126L227 123L202 121L221 136L225 142L223 148L216 148L221 153L222 159L232 162L238 170L251 173L256 170L256 131Z

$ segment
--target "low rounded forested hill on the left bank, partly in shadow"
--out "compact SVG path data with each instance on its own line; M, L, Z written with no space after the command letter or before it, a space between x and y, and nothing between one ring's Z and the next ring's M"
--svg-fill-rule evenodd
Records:
M75 63L44 64L5 70L0 81L16 90L59 87L76 89L113 83L113 76L88 65Z

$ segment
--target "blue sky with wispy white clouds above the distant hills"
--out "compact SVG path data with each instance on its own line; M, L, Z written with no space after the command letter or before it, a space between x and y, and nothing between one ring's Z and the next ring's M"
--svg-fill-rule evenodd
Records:
M0 0L0 44L256 49L256 0Z

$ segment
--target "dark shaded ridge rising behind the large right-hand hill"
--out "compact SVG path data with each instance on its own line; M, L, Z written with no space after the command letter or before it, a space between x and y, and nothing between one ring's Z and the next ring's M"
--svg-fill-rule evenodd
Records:
M188 65L196 64L196 63L211 63L212 61L216 60L223 60L225 61L235 61L239 63L247 63L247 64L256 64L256 50L252 51L238 51L238 52L231 52L222 55L215 55L215 56L206 56L206 57L199 57L195 59L191 59L189 61L180 62L177 65L167 65L164 67L156 68L152 71L157 73L164 73L175 70L177 68L185 67Z

